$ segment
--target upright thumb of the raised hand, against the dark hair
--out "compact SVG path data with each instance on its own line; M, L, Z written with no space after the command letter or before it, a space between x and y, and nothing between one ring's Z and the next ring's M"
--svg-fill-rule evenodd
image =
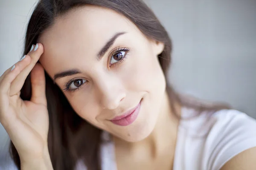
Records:
M37 63L31 71L32 96L31 102L47 105L45 94L45 75L44 68Z

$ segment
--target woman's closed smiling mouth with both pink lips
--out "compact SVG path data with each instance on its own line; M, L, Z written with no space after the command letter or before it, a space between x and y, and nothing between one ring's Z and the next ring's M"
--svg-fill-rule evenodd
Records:
M116 116L110 121L119 126L128 126L131 125L138 117L138 114L140 112L140 106L141 106L142 99L140 100L140 103L131 110L123 113L121 116Z

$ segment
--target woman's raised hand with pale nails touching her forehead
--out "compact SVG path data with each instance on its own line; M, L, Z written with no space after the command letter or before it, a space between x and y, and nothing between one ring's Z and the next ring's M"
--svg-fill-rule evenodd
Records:
M33 47L13 70L9 68L0 77L0 123L15 145L20 161L40 159L49 154L44 68L37 63L44 47L40 43ZM30 72L32 97L30 101L23 101L20 90Z

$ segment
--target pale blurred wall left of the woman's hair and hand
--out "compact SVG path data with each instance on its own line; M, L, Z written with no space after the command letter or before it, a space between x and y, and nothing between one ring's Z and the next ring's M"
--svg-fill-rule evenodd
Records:
M0 0L0 75L22 57L26 24L37 1ZM0 170L6 170L5 164L9 164L8 142L0 124Z

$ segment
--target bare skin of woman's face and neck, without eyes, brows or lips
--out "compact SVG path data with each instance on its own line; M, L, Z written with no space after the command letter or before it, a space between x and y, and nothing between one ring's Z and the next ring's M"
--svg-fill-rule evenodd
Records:
M117 32L126 33L116 39L102 59L97 59L100 49ZM150 169L148 159L159 165L163 158L168 159L163 166L170 169L178 120L170 113L166 80L157 58L164 48L162 42L145 37L122 15L96 6L77 8L56 19L39 42L45 49L40 62L52 79L67 70L81 72L56 79L61 89L70 79L87 80L78 90L63 93L79 116L113 134L120 169L127 168L128 159L134 162L134 168L144 165ZM123 62L113 60L112 51L118 47L130 49ZM109 121L134 108L141 99L140 113L131 125ZM163 130L170 126L171 131ZM170 150L166 152L164 146ZM136 158L141 159L140 164L135 163Z

